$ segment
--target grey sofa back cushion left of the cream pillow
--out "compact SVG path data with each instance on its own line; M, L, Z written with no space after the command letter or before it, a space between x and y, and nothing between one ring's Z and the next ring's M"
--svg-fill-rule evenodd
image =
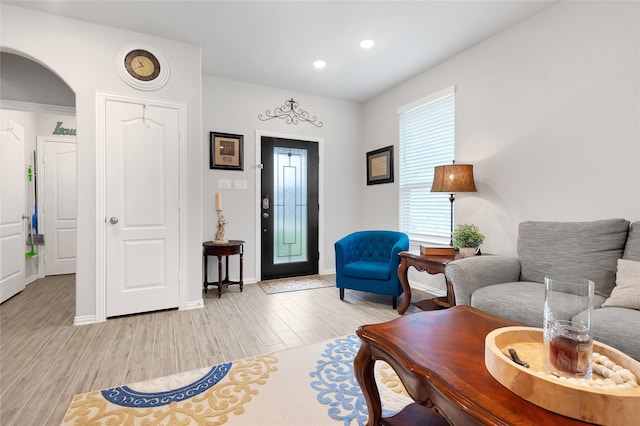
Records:
M588 278L596 294L608 297L615 285L617 260L622 257L629 221L535 222L520 224L518 257L521 281Z

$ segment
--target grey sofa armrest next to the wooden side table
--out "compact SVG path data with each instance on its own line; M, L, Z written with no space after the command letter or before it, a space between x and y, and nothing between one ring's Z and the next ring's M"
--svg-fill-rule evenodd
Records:
M520 280L520 261L506 256L474 256L449 262L445 276L453 285L456 305L470 305L471 295L491 284Z

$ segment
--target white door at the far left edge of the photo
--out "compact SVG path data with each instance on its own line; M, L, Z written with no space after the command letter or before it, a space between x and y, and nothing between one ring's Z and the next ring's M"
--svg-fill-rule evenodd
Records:
M0 129L0 303L25 287L25 179L24 128L9 121Z

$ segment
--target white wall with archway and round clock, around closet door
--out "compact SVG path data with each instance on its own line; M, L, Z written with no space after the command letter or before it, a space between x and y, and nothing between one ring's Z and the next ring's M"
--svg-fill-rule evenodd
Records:
M78 162L78 267L76 319L96 313L96 91L183 102L188 108L187 304L201 301L202 125L200 49L74 19L1 4L0 48L43 64L76 94ZM119 51L131 43L158 49L169 61L171 78L162 89L140 92L126 85L115 68Z

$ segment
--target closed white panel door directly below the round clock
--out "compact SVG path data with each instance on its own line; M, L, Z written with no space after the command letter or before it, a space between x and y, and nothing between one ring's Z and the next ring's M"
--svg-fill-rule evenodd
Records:
M179 111L107 100L106 316L179 305Z

